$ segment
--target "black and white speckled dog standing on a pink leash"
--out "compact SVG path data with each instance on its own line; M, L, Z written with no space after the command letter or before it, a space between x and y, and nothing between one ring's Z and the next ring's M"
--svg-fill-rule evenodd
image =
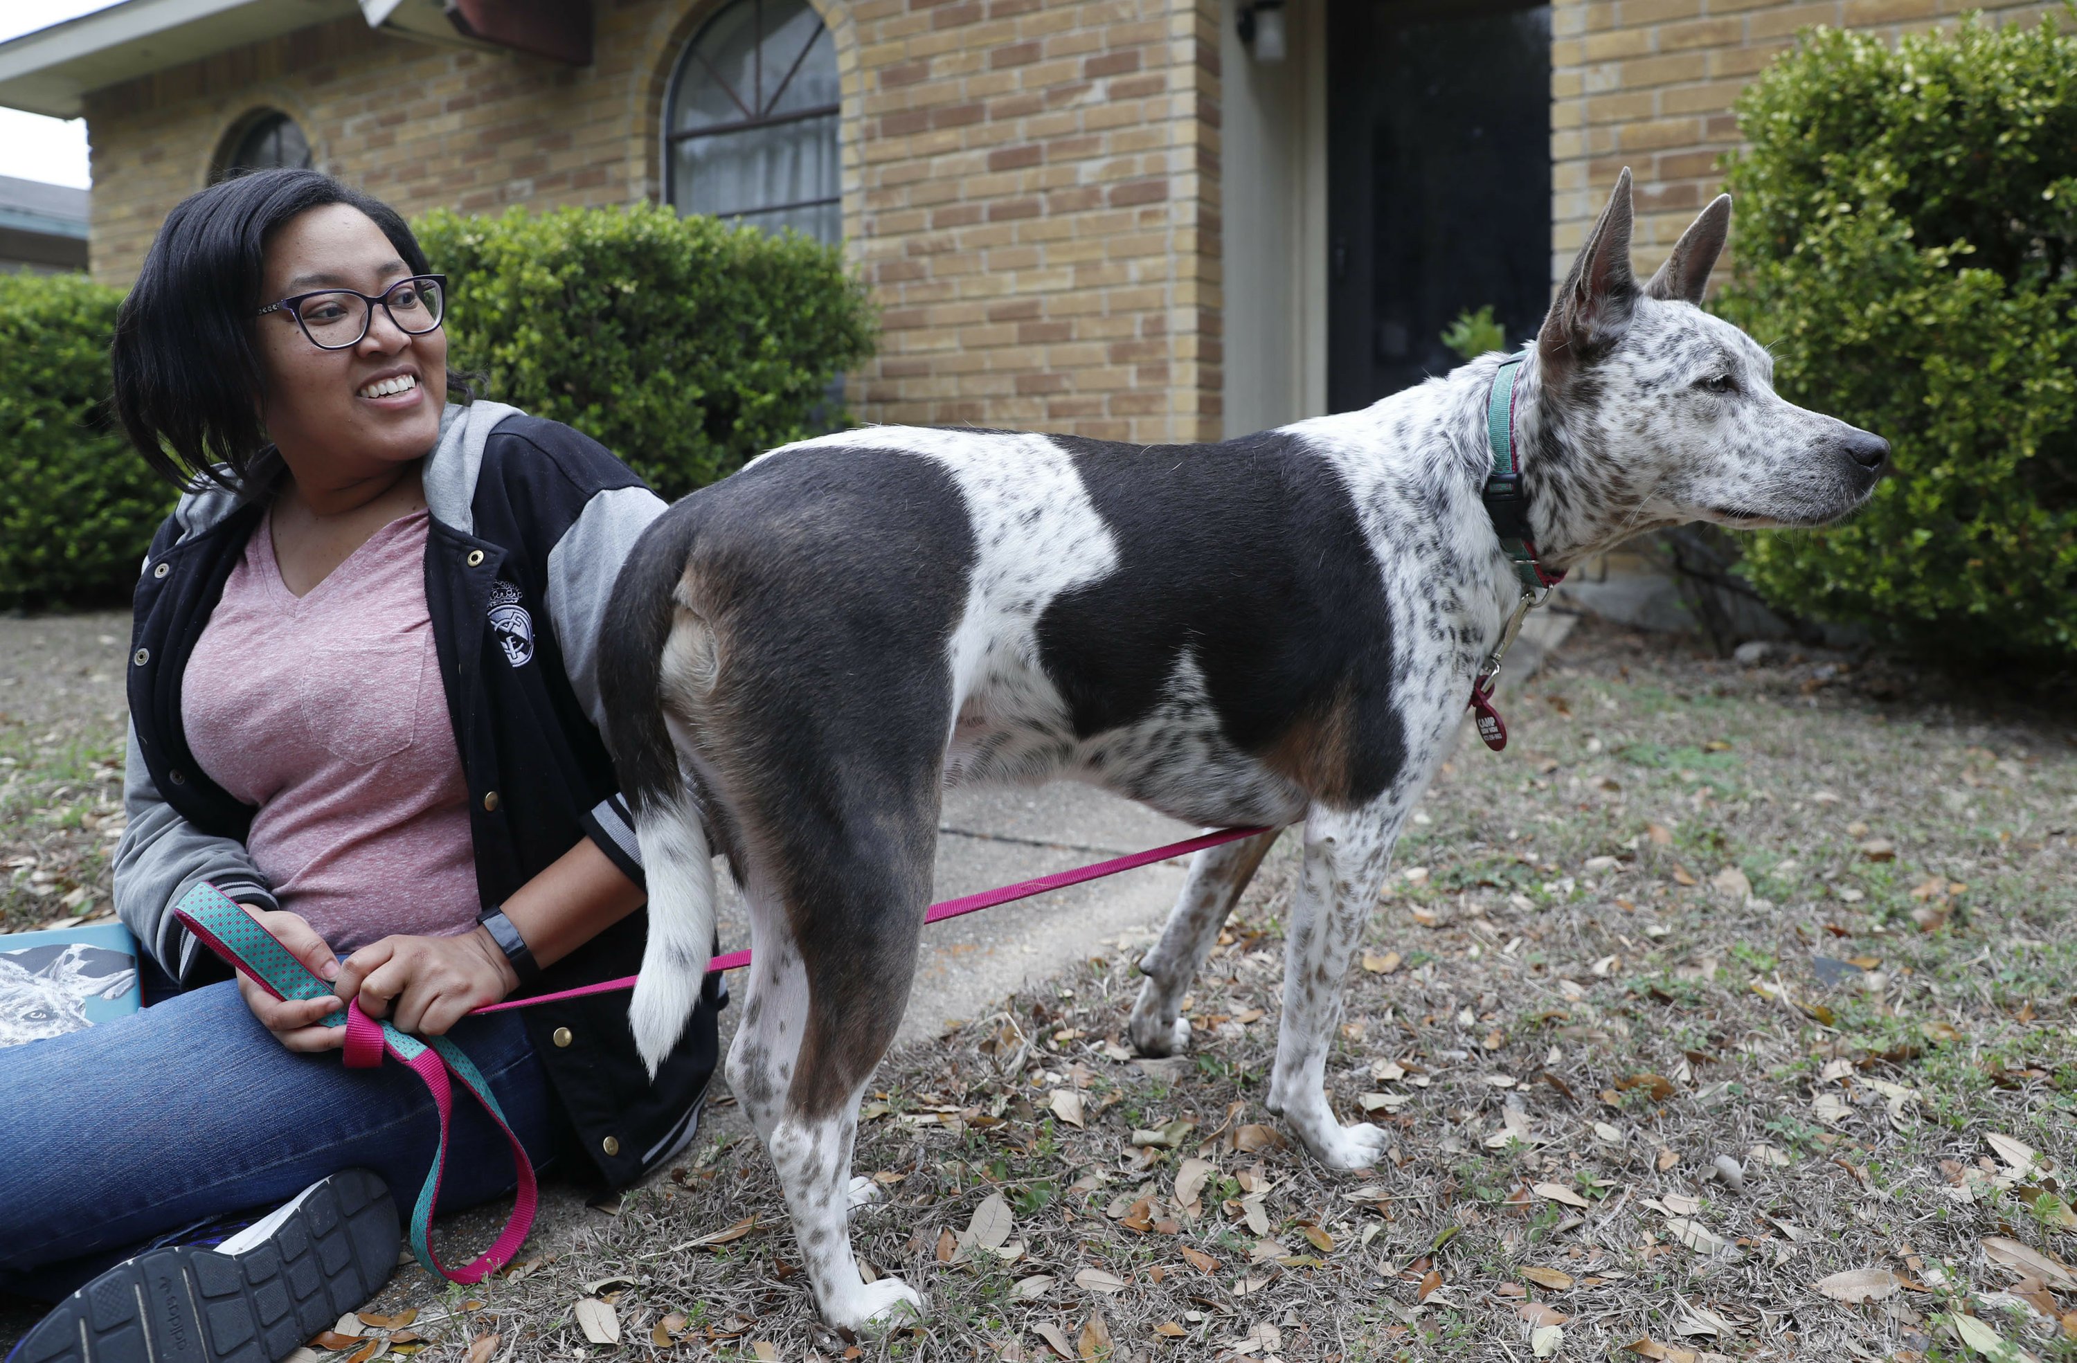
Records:
M1711 204L1643 287L1630 179L1522 364L1514 443L1552 567L1653 526L1817 526L1888 445L1776 397L1768 353L1697 308ZM1363 411L1223 445L864 428L787 445L671 507L621 569L600 659L648 866L631 1004L679 1035L714 935L712 852L756 952L729 1083L785 1184L835 1326L858 1099L908 1004L939 792L1074 777L1198 825L1302 825L1269 1107L1338 1170L1323 1070L1392 844L1520 596L1481 501L1500 355ZM1178 1006L1275 833L1201 852L1132 1012Z

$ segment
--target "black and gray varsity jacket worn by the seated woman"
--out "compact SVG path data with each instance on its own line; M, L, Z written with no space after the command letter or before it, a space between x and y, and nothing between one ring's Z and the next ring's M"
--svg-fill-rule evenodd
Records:
M498 403L447 407L424 482L426 605L469 787L482 902L503 904L579 837L642 883L600 740L596 663L621 559L663 501L596 440ZM114 902L183 989L228 977L170 912L189 887L210 881L233 900L278 908L245 852L253 806L201 773L181 727L187 659L264 511L214 488L183 497L137 584L129 829L116 846ZM633 974L646 933L648 912L638 910L515 997ZM519 1012L609 1184L642 1178L692 1139L714 1072L714 1014L727 1001L717 979L654 1083L627 1028L625 993Z

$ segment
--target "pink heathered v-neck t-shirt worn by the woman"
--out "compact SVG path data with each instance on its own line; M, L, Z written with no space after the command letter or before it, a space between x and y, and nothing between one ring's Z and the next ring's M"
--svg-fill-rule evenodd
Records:
M258 806L245 848L345 956L476 925L467 783L426 613L426 511L297 596L262 517L181 679L204 773Z

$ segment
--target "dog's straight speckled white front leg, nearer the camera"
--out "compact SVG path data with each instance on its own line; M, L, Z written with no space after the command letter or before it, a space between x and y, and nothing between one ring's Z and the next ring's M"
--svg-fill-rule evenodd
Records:
M1304 868L1284 939L1284 1024L1269 1076L1269 1110L1331 1170L1360 1170L1385 1149L1369 1122L1342 1126L1327 1107L1327 1051L1342 1016L1342 979L1385 881L1404 804L1317 808L1304 825Z

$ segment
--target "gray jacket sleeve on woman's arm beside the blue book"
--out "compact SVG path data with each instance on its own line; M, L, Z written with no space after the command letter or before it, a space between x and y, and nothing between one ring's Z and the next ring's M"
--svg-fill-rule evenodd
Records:
M116 844L116 916L143 950L185 989L199 964L199 943L172 916L172 906L199 881L208 881L241 904L280 908L245 844L204 833L166 804L137 750L137 727L129 731L123 769L123 808L129 825Z

